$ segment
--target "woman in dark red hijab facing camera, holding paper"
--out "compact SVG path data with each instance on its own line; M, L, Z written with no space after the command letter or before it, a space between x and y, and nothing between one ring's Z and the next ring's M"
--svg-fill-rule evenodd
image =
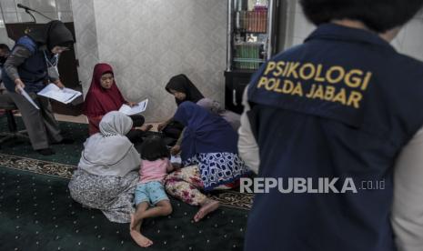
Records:
M83 114L88 117L89 135L99 132L98 124L101 118L111 111L118 111L122 105L135 105L127 102L117 88L112 66L101 63L94 66L93 79L86 94ZM134 126L143 126L144 116L131 115ZM143 126L141 131L149 130L151 126ZM137 141L139 134L134 130L126 135L132 142Z

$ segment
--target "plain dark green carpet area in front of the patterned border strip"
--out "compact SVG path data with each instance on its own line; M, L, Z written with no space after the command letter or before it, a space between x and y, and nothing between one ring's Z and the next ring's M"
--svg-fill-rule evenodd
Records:
M127 224L83 208L67 179L0 167L0 250L138 250ZM172 200L171 216L146 220L148 250L242 250L247 211L221 207L194 223L196 207Z

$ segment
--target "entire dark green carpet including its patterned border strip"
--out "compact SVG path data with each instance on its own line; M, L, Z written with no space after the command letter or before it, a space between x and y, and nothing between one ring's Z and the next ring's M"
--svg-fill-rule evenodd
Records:
M24 128L22 120L16 122ZM55 145L41 156L28 142L9 141L0 149L0 250L140 250L127 224L111 223L101 211L84 208L68 193L68 178L79 161L87 126L60 123L76 140ZM0 129L6 128L0 117ZM171 216L146 220L148 250L242 250L246 209L253 196L225 191L208 195L222 206L194 223L197 207L173 200Z

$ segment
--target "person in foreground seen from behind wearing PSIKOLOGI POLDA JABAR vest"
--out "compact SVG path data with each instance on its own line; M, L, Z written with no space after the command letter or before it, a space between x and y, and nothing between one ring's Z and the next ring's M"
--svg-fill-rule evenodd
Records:
M388 42L423 1L300 4L317 29L262 65L245 95L240 155L259 156L247 165L284 188L255 196L245 250L421 250L423 64Z

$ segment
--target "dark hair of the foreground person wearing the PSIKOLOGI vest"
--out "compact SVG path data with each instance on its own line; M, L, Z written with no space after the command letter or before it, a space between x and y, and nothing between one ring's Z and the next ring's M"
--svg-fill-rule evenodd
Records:
M405 25L421 10L423 0L300 0L300 4L315 25L353 19L383 33Z

